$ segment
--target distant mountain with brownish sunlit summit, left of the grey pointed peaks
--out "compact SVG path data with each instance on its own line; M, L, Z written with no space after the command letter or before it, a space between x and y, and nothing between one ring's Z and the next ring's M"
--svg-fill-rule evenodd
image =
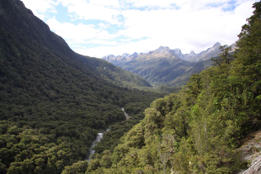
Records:
M168 47L160 46L157 50L148 53L124 54L117 57L110 55L103 59L140 75L153 86L160 86L172 85L170 82L173 79L195 65L194 62L182 60L180 55L182 53L179 49L170 50Z

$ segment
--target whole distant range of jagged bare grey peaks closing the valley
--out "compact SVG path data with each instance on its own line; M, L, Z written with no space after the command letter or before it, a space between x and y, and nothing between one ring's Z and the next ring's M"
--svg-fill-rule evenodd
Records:
M102 59L140 75L154 87L161 85L181 87L193 73L199 73L212 66L210 58L221 53L220 46L221 44L217 42L213 47L197 54L193 50L189 54L182 54L179 48L171 50L160 46L148 53L108 55ZM236 48L235 44L231 44L231 47L232 50Z

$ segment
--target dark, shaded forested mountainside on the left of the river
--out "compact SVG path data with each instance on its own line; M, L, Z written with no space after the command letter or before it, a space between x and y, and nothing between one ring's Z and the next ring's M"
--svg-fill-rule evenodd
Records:
M150 90L75 53L21 1L0 1L0 173L61 173L85 159L99 130L124 122L121 107L140 112L163 96ZM126 124L144 117L132 116Z

